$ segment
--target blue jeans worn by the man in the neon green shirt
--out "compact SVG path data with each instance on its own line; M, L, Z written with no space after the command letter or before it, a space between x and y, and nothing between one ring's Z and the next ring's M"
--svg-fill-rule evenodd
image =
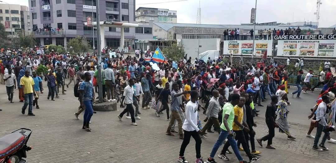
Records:
M233 137L228 136L227 131L225 131L223 129L220 129L220 130L221 131L220 131L219 137L218 137L216 143L213 145L213 148L212 148L211 153L210 153L210 157L211 158L215 157L215 154L216 154L218 148L223 144L224 140L227 138L227 141L229 141L229 143L230 143L233 151L235 152L238 160L243 161L243 157L239 153L236 140L233 139ZM233 131L231 131L231 132L233 132Z

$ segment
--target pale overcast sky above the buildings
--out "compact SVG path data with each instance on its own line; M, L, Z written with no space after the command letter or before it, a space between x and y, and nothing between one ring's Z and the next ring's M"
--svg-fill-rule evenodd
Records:
M31 0L2 1L28 6L28 2ZM199 0L169 1L176 0L136 0L135 8L153 7L176 10L178 23L196 23ZM157 2L169 3L144 4ZM258 0L256 22L316 21L316 15L314 15L316 2L317 0ZM132 2L129 5L132 8ZM254 0L202 0L202 24L249 23L252 7L255 7ZM336 24L335 8L336 0L322 0L319 27L329 27Z

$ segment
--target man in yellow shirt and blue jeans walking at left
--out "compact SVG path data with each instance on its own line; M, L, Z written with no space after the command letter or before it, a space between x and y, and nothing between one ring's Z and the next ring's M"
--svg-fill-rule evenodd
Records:
M27 69L25 71L25 76L21 77L20 79L20 86L23 88L24 97L25 97L25 104L22 107L22 114L25 114L25 110L29 105L28 115L35 116L33 113L33 98L36 96L35 89L34 89L34 80L30 76L30 71Z

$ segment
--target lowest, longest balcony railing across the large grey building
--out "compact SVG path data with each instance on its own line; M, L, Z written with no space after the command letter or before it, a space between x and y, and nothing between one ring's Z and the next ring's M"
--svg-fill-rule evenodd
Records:
M34 35L91 35L92 31L77 31L77 30L60 30L60 31L34 31L28 32ZM120 36L120 32L104 31L106 36ZM97 31L94 31L94 35L97 35ZM124 36L135 37L135 33L124 33Z

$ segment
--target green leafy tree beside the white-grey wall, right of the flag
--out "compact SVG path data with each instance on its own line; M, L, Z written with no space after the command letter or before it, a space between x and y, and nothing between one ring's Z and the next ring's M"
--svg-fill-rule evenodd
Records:
M185 55L184 46L182 44L176 44L176 43L171 44L170 47L163 48L162 53L167 60L170 58L175 62L183 59Z

